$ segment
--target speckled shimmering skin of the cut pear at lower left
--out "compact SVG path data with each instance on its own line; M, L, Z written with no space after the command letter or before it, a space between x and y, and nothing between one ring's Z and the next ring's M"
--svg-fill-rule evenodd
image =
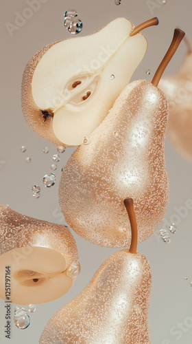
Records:
M57 250L64 256L66 267L78 260L75 239L68 228L21 215L0 204L0 254L27 246Z

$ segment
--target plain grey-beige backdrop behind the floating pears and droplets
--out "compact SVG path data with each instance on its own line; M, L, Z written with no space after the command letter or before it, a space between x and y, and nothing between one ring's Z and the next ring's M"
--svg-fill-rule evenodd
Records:
M30 2L30 1L29 1ZM153 13L147 4L154 4ZM51 157L56 153L52 144L42 140L27 127L21 112L21 78L25 64L41 47L69 38L70 34L63 27L63 13L68 8L75 8L84 23L80 35L91 34L116 17L127 17L135 25L151 18L158 17L160 25L145 30L149 49L144 61L137 69L132 80L147 78L150 80L156 71L167 47L169 46L173 29L177 26L185 30L192 43L191 0L122 0L121 6L115 6L114 0L45 0L40 10L34 12L25 25L13 32L11 37L5 28L5 23L14 23L16 14L22 14L29 7L24 0L1 0L1 196L0 202L10 204L14 210L25 215L46 219L50 222L63 222L58 206L58 182L60 170L67 162L72 149L61 156L56 171L57 182L52 189L45 189L42 178L50 172ZM165 74L176 72L182 62L187 48L181 44L178 53L173 58ZM146 69L152 70L152 75L145 74ZM21 153L22 144L27 146L27 152ZM49 147L49 154L43 153L43 148ZM25 157L32 158L30 164L25 163ZM171 327L192 320L192 281L191 269L191 240L192 240L192 210L187 216L176 218L175 207L184 206L192 199L192 164L184 160L166 143L167 171L171 186L171 197L166 219L168 222L178 221L178 232L171 235L171 244L166 245L157 235L139 245L150 261L153 272L153 293L149 313L149 323L153 344L190 344L192 328L184 327L175 335L170 333ZM41 197L34 200L31 187L34 184L42 186ZM81 275L67 295L51 303L38 305L36 313L31 315L31 325L27 330L18 330L12 325L12 339L9 343L34 344L45 324L62 305L77 295L90 281L101 263L115 252L108 248L99 248L89 244L84 239L74 235L79 248ZM184 281L184 277L189 277ZM5 344L3 334L5 325L4 302L1 300L0 314L0 343ZM189 322L190 325L190 322ZM192 323L191 323L192 325ZM172 329L173 330L173 329ZM175 330L176 331L176 330ZM180 334L180 335L179 335ZM180 337L178 340L177 338ZM166 340L165 340L166 339Z

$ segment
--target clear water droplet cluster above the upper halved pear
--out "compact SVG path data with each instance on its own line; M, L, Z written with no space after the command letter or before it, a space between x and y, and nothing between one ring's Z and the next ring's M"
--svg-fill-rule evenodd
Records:
M78 14L75 10L67 10L64 12L64 27L71 34L79 34L82 31L83 23L78 18Z

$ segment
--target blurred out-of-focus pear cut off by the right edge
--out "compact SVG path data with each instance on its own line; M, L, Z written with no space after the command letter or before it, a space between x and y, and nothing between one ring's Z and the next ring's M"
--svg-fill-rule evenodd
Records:
M169 101L167 133L176 151L192 162L192 47L186 39L188 52L178 73L160 81Z

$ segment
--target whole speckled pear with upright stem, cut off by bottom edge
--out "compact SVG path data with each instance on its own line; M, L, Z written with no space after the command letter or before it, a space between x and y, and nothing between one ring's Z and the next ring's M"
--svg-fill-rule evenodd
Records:
M148 324L152 272L136 252L132 200L125 200L132 225L130 250L110 256L88 286L47 323L40 344L151 344Z

